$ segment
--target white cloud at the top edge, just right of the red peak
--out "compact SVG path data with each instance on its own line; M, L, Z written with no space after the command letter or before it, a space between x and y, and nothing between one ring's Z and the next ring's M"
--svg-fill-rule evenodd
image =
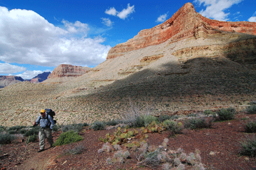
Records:
M215 20L228 20L230 13L225 13L225 10L234 4L239 4L243 0L195 0L193 3L199 5L204 4L205 10L201 10L200 14L204 17Z

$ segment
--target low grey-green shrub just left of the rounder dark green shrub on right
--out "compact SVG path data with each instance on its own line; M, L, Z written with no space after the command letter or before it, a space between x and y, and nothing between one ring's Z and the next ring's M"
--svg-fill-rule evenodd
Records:
M191 118L184 121L185 128L210 128L212 125L212 121L207 122L205 118Z

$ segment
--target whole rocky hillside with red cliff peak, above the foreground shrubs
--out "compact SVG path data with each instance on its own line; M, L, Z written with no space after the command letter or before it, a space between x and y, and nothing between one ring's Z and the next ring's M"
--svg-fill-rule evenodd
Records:
M187 3L111 48L106 61L83 75L1 89L0 125L31 125L42 108L56 111L58 123L110 120L130 100L154 114L243 110L256 100L255 27L206 19Z

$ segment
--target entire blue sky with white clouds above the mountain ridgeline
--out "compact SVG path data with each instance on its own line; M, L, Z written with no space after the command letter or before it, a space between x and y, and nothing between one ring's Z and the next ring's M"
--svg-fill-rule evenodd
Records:
M0 0L0 75L31 79L60 64L97 66L111 47L170 19L188 2L210 19L256 22L249 0Z

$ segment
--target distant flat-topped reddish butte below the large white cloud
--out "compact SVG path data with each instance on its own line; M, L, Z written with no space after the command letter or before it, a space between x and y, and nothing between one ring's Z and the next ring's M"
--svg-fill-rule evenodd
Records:
M90 68L82 67L82 66L73 66L73 65L59 65L50 75L48 79L55 78L55 77L78 77L83 75L84 73L89 72Z

